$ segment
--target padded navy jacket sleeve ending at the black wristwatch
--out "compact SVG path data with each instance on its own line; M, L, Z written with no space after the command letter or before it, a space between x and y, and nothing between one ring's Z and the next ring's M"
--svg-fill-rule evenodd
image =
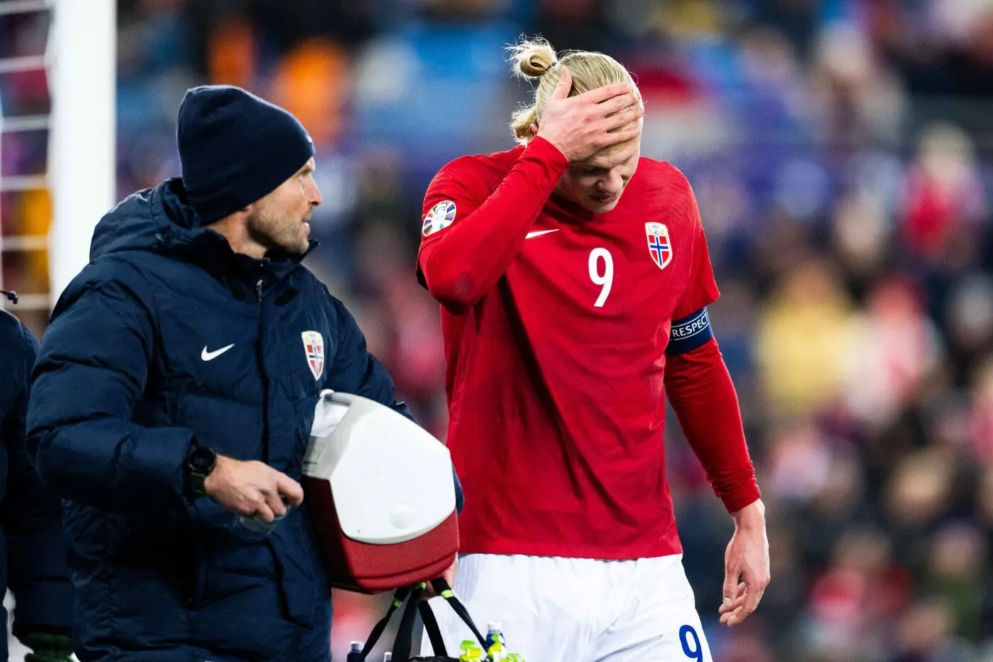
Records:
M104 280L56 309L35 367L28 448L62 497L120 512L186 508L193 432L131 420L155 347L150 300Z

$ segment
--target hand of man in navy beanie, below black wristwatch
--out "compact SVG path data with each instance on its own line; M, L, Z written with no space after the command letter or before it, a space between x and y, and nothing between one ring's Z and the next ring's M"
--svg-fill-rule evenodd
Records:
M217 464L204 481L207 495L235 515L272 522L286 515L287 506L304 501L300 483L268 464L242 462L217 455Z

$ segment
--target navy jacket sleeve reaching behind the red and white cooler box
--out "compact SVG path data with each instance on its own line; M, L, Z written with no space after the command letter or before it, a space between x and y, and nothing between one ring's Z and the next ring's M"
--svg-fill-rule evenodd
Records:
M399 412L414 420L410 410L403 403L396 402L396 392L393 378L389 376L379 360L372 356L365 347L365 336L362 334L355 317L345 307L345 304L328 293L328 298L335 308L339 324L338 349L335 361L331 366L331 388L335 391L355 394L385 405L394 412ZM417 422L414 420L414 422ZM463 506L462 482L452 467L455 481L455 503L461 513Z

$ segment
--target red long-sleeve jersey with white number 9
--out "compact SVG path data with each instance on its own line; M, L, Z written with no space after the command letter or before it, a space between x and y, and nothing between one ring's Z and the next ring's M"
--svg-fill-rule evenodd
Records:
M672 320L718 296L699 212L678 170L641 158L593 214L553 193L566 166L535 138L449 163L425 196L418 275L442 304L462 549L677 554L665 391L725 506L759 498L716 343L665 354Z

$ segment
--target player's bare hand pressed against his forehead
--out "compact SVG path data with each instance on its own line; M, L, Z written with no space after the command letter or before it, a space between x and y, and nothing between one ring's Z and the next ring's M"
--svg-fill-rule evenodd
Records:
M541 125L532 125L532 133L555 145L570 163L638 136L636 120L644 110L630 85L614 83L569 96L572 75L565 65L559 68L559 82L545 103Z

